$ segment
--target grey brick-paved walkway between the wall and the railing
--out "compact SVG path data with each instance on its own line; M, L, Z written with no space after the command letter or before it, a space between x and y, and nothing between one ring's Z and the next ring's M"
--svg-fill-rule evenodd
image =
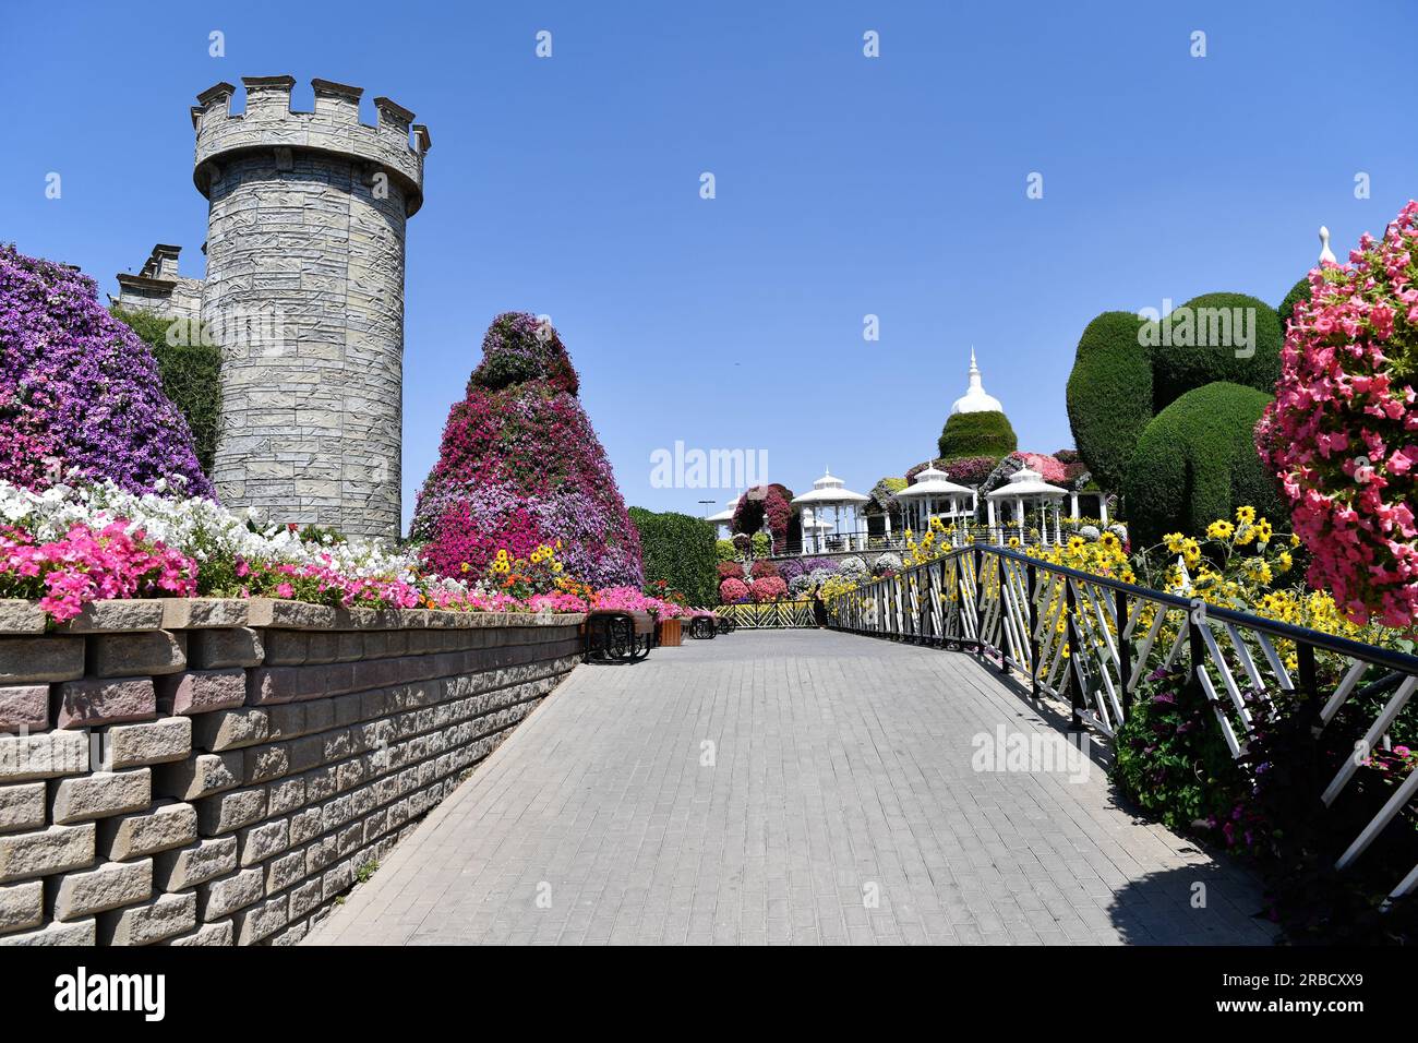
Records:
M309 942L1268 941L1255 884L1102 769L974 769L997 727L1054 741L1041 711L828 631L581 666Z

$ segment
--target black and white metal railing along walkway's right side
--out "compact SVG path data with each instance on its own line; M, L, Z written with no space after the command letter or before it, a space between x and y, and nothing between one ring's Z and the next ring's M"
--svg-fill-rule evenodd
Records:
M1185 673L1238 761L1245 759L1258 710L1263 712L1280 692L1303 697L1297 705L1312 715L1316 749L1323 739L1326 748L1346 752L1329 758L1314 780L1323 809L1344 800L1358 769L1392 745L1394 724L1418 688L1415 656L1000 546L953 549L868 582L837 599L828 617L831 626L852 633L984 656L1003 673L1020 671L1035 695L1068 700L1072 728L1090 728L1107 739L1132 712L1139 685L1159 668ZM1385 830L1414 830L1415 796L1418 771L1391 792L1381 790L1381 800L1366 796L1357 819L1363 826L1351 839L1346 834L1336 868L1354 866ZM1377 807L1371 816L1370 806ZM1388 898L1415 887L1418 864L1392 881Z

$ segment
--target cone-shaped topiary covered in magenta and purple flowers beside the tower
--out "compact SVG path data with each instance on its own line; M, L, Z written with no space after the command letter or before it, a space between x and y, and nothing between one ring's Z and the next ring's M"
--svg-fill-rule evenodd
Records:
M481 575L499 549L526 558L560 539L574 579L641 586L640 536L579 386L549 324L523 312L492 321L418 492L411 535L427 541L432 569Z

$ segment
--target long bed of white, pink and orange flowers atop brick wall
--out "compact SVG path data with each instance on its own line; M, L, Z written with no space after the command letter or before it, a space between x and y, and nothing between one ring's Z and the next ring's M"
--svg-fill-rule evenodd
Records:
M265 525L201 497L130 492L112 481L35 491L0 481L0 597L34 600L51 623L89 603L143 597L269 597L342 609L577 613L620 607L674 619L685 606L635 587L596 590L564 575L559 546L502 549L485 573L431 575L417 549ZM560 543L560 541L557 541Z

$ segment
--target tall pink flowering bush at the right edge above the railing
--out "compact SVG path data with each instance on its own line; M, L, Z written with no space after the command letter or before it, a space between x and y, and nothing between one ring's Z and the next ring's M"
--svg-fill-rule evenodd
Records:
M1418 620L1418 203L1349 264L1310 272L1256 448L1312 555L1309 582L1357 622Z

